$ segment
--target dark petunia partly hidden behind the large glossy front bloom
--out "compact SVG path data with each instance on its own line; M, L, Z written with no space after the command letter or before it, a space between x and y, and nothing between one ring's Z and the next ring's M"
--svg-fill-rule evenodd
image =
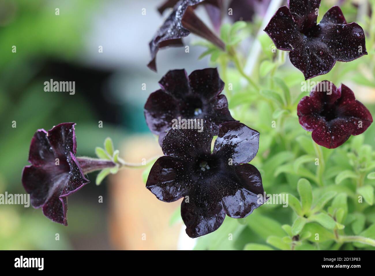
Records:
M224 83L216 68L193 71L189 77L184 69L172 70L159 81L160 90L150 94L144 106L148 128L159 135L162 145L165 134L172 127L172 120L204 119L210 121L214 135L219 125L236 121L228 109Z

